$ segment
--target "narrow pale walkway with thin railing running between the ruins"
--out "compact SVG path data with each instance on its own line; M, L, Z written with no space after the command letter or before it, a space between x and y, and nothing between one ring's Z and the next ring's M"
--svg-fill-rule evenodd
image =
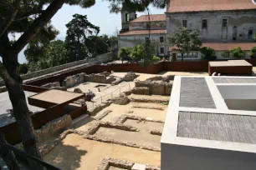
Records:
M92 100L92 107L96 107L97 103L104 103L109 99L114 97L119 97L122 92L127 92L131 90L131 84L127 83L124 86L116 88L113 92L109 92L101 97L95 98Z

